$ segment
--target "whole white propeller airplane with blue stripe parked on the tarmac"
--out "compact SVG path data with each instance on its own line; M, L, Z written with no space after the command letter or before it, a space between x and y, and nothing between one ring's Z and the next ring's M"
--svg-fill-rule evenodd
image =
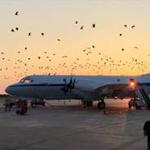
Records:
M105 108L106 97L133 97L137 86L150 94L150 74L139 76L69 76L31 75L9 85L9 95L23 98L81 100L84 106L98 101L99 109Z

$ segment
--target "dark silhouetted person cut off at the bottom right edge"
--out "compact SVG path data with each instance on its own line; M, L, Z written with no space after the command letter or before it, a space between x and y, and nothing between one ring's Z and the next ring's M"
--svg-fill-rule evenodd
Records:
M150 120L145 122L143 130L144 135L147 136L147 150L150 150Z

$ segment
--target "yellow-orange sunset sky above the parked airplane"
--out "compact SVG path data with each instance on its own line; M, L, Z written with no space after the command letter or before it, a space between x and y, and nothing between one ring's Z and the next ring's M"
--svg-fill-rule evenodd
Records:
M149 73L149 16L149 0L0 0L0 94L33 74Z

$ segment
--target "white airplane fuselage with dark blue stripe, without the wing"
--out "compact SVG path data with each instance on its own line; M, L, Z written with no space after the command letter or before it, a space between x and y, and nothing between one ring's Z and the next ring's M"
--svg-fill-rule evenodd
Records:
M43 99L94 99L96 89L115 84L128 84L130 79L150 83L150 75L142 76L43 76L33 75L10 85L10 95Z

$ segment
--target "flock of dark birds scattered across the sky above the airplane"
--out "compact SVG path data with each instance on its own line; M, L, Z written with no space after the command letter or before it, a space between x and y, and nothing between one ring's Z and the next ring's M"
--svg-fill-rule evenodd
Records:
M17 17L19 14L19 11L16 11L14 13L14 15ZM74 22L75 25L80 25L79 21L75 21ZM135 29L136 26L135 25L127 25L124 24L123 25L124 28L128 28L128 29ZM96 28L96 24L93 23L91 24L91 28L95 29ZM79 26L80 30L84 30L84 25L80 25ZM19 31L19 27L15 27L11 29L12 33L18 32ZM32 36L32 32L28 32L27 35L30 37ZM44 32L40 33L41 36L45 36ZM122 37L124 34L123 33L119 33L119 36ZM62 39L57 38L58 42L61 42ZM139 47L138 46L134 46L134 49L138 50ZM24 51L28 51L28 47L24 47ZM121 52L125 51L125 48L121 48L120 50ZM74 57L72 58L72 61L70 61L69 59L69 55L62 55L61 56L61 60L60 63L57 64L57 66L53 66L53 61L58 59L57 53L56 52L49 52L49 51L43 51L43 54L40 56L30 56L30 57L26 57L25 56L25 60L21 59L19 57L19 54L24 53L23 50L19 50L17 51L17 58L11 59L6 57L6 53L5 51L1 51L0 52L0 59L1 61L4 62L10 62L12 64L11 69L13 70L13 73L11 74L11 77L9 77L7 75L7 71L10 69L7 66L2 66L0 68L0 73L2 73L3 71L6 72L6 75L4 75L4 79L8 79L8 78L13 78L14 79L19 79L23 76L29 75L29 74L47 74L47 75L57 75L60 74L59 70L65 70L66 72L70 73L70 74L76 74L77 72L84 72L84 70L87 70L89 72L94 72L93 74L96 75L100 75L103 74L103 70L104 68L106 68L106 70L108 70L107 72L109 72L110 74L115 72L118 73L120 72L120 70L123 67L128 67L131 70L133 69L137 69L140 70L140 72L144 72L145 69L147 69L147 66L145 65L146 63L143 60L139 60L136 57L131 57L131 59L129 59L128 61L124 61L124 60L116 60L111 56L107 56L104 55L100 50L97 50L96 45L90 45L87 46L85 49L81 50L80 53L82 56L84 56L84 59L86 60L86 62L81 63L82 57ZM97 56L98 59L96 59L96 62L92 62L92 58L93 55ZM46 63L49 65L43 65L41 62L41 65L37 65L37 64L32 64L32 59L34 59L36 57L37 61L39 62L40 60L44 60ZM67 63L69 61L69 63ZM23 72L20 72L20 69L24 68ZM32 72L32 70L36 70L35 72Z

